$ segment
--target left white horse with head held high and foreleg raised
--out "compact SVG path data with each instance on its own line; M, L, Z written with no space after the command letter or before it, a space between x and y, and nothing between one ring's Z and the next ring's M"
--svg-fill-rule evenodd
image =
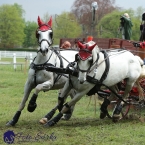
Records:
M64 86L67 80L66 75L58 74L59 72L50 72L45 68L48 68L49 66L54 68L66 68L69 62L74 61L75 54L77 53L77 51L73 50L55 51L50 49L50 46L53 43L53 31L51 28L52 18L50 18L48 23L43 23L43 21L41 21L40 17L38 16L38 26L39 28L36 31L36 37L38 39L40 48L37 52L37 56L34 58L30 65L28 79L24 87L24 96L18 111L14 115L13 119L6 124L7 126L14 126L18 122L21 111L24 109L25 103L34 88L35 92L32 95L27 108L29 112L33 112L37 107L36 99L40 91L61 89ZM73 92L71 97L73 97ZM47 115L46 117L49 116Z

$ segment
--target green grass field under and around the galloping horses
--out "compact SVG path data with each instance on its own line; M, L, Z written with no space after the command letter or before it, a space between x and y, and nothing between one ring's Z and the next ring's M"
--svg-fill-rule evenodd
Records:
M9 130L16 135L16 145L145 145L144 123L135 119L118 123L108 118L100 120L99 105L95 114L95 102L92 99L88 106L86 96L77 103L69 121L43 127L38 121L56 104L57 90L41 92L36 110L29 113L26 104L16 126L6 127L21 102L26 79L25 69L14 71L10 65L0 65L0 144L5 144L3 135Z

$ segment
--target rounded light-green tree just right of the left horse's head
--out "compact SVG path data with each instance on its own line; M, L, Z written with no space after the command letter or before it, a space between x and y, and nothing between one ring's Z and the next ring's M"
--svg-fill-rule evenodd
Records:
M71 13L63 12L57 16L53 24L54 43L58 44L60 38L77 38L81 35L81 27Z

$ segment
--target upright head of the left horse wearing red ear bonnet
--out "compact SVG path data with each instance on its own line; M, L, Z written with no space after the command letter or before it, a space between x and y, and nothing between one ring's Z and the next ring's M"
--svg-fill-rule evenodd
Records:
M47 23L44 23L38 16L38 29L36 30L36 38L40 45L40 52L46 55L48 49L52 45L53 31L52 31L52 17Z

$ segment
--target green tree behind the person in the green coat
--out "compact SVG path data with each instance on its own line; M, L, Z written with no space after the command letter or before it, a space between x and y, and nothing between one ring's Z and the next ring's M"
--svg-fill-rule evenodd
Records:
M140 36L140 20L134 16L135 11L133 11L132 9L125 11L113 11L112 13L105 15L96 26L96 30L99 32L99 37L122 39L122 34L119 31L120 16L126 12L130 15L131 21L133 23L131 38L132 40L138 41Z

